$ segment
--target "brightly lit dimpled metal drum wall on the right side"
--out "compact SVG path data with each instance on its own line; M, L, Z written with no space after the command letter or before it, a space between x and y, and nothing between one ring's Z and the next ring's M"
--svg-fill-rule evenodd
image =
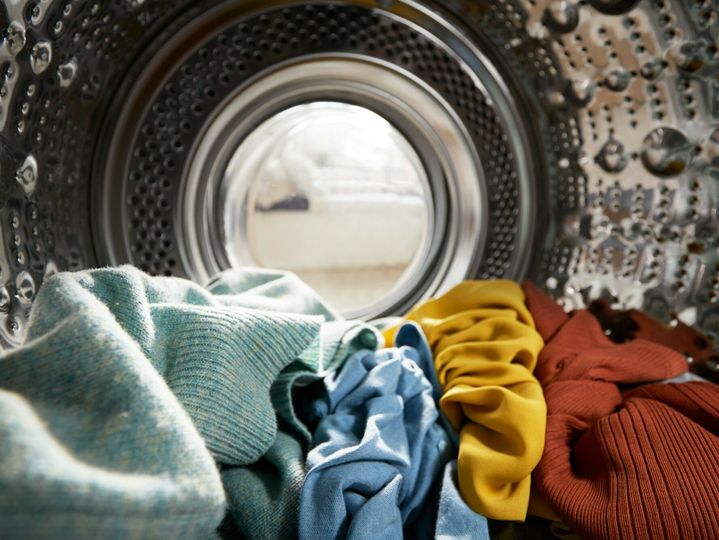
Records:
M523 7L528 31L551 40L581 142L557 163L583 180L562 208L545 284L568 308L605 297L716 340L717 4Z

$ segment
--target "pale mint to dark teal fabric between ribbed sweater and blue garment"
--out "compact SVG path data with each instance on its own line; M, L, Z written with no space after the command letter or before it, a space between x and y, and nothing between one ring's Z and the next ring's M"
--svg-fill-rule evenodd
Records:
M294 402L304 389L335 371L360 349L374 350L382 337L372 327L341 320L310 287L289 272L238 269L219 275L209 286L226 302L266 311L317 315L326 322L316 339L275 379L270 395L280 421L274 444L258 461L222 469L233 538L285 539L297 534L305 459L312 435L298 418ZM248 493L252 497L248 497Z

